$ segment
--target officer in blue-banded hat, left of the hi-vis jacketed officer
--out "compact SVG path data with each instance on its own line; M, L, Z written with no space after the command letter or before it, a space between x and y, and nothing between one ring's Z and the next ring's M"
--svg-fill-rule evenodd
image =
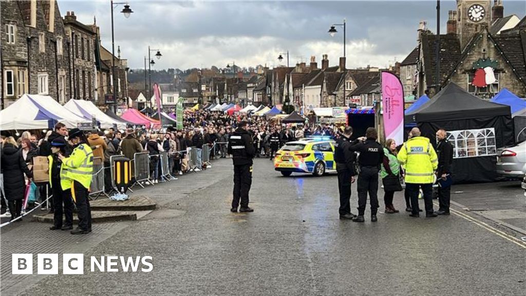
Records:
M66 154L67 142L63 136L58 136L50 143L52 154L47 156L49 160L49 185L51 186L53 194L53 226L49 230L72 230L73 229L73 201L71 198L68 185L71 183L70 179L61 175L62 161L59 156L67 156ZM65 189L63 188L63 184ZM65 223L62 223L62 216L65 217Z

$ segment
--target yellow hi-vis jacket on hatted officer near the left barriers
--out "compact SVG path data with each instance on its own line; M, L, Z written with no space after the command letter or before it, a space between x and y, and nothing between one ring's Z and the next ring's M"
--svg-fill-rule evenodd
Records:
M93 174L93 151L89 145L78 145L71 155L62 161L62 169L60 169L61 186L63 173L64 179L77 181L86 189L89 189L89 185L92 183ZM70 187L71 185L69 185L69 188ZM65 189L64 186L62 186L62 189Z

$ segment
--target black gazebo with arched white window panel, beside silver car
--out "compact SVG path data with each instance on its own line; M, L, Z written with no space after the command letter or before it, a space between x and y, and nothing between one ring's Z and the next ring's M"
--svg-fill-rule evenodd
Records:
M416 122L422 136L434 141L439 129L448 132L453 152L455 183L497 180L497 149L513 144L509 106L484 101L450 83L429 102L405 116Z

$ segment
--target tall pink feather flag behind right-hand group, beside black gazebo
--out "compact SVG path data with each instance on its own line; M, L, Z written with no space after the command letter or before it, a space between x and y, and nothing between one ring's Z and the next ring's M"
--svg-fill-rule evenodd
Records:
M386 140L403 143L403 86L399 78L387 71L382 72L383 129Z

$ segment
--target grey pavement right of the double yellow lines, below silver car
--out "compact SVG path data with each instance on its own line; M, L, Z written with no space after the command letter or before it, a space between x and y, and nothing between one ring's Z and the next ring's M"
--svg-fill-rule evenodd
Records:
M451 201L526 235L526 198L520 181L453 185Z

